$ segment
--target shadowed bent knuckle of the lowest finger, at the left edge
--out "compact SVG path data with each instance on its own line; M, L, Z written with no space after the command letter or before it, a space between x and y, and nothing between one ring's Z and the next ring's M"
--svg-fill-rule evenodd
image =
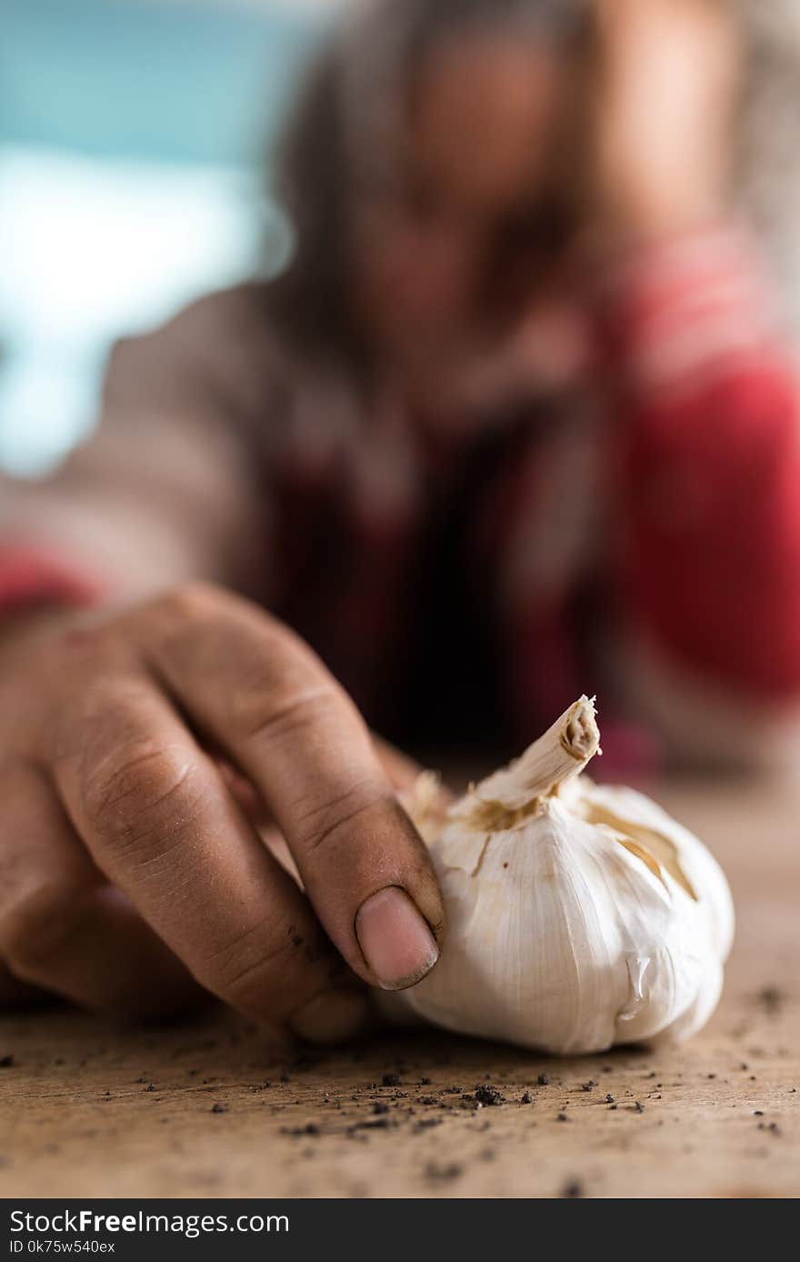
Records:
M28 891L0 925L0 945L9 970L35 979L85 933L86 891L71 881L53 880Z

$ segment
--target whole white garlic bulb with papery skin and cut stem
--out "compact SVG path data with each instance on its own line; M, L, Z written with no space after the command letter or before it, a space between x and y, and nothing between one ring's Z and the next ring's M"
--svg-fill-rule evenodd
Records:
M728 885L644 794L580 775L598 750L582 697L445 813L420 777L406 808L448 933L433 972L384 1011L553 1053L685 1039L705 1023L733 938Z

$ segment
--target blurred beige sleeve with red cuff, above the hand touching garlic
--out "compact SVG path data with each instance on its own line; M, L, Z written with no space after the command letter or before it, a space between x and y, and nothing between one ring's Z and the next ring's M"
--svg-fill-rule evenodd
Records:
M93 437L43 482L0 481L0 604L192 578L255 592L268 505L254 304L231 290L117 343Z

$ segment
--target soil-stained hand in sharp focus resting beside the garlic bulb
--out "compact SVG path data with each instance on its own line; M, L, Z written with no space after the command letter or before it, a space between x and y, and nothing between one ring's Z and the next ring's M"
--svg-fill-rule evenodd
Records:
M1 641L0 800L0 1002L23 982L143 1013L199 983L326 1041L360 1026L357 978L400 988L437 960L437 881L361 717L213 587Z

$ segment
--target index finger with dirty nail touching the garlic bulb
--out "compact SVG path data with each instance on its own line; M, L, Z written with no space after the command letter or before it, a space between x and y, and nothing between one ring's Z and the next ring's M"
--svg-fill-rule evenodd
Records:
M202 584L134 615L134 636L264 796L352 969L385 989L419 982L444 930L433 866L363 719L315 654L261 610Z

